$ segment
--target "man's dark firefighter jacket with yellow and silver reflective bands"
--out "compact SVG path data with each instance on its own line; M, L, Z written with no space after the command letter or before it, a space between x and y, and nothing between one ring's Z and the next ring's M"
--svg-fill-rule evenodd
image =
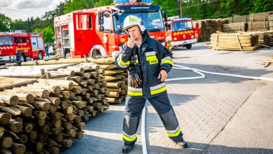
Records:
M161 82L161 79L157 78L160 70L165 69L167 73L170 71L173 64L172 53L157 40L146 34L143 34L140 49L136 45L134 48L136 48L136 54L139 55L136 56L135 54L135 72L139 74L142 83L137 88L130 87L130 84L128 84L127 94L130 96L145 96L147 99L166 94L165 82ZM127 47L127 43L125 43L120 52L115 59L115 65L120 69L126 69L130 65L133 49ZM141 63L143 64L137 65ZM128 76L128 83L129 80Z

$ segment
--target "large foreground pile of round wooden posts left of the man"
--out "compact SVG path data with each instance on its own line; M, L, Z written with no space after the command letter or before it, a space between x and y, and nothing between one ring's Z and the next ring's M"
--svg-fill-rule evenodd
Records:
M72 146L71 138L81 139L81 121L126 96L127 75L113 62L57 58L0 69L0 76L14 77L0 77L0 153L59 153ZM52 79L22 79L45 76Z

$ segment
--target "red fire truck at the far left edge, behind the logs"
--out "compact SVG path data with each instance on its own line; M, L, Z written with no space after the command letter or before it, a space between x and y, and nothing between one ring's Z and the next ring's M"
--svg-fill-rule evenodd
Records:
M1 32L0 65L31 59L43 59L44 44L41 33Z

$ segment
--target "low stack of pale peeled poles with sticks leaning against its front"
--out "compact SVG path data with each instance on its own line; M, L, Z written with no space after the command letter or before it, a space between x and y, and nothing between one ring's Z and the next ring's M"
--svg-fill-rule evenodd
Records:
M258 35L252 33L213 33L211 47L214 50L252 51L258 49Z

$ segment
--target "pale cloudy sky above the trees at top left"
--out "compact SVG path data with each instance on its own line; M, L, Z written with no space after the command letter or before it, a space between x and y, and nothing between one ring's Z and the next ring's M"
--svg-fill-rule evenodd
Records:
M53 11L64 0L1 0L0 13L12 20L41 17L45 12Z

